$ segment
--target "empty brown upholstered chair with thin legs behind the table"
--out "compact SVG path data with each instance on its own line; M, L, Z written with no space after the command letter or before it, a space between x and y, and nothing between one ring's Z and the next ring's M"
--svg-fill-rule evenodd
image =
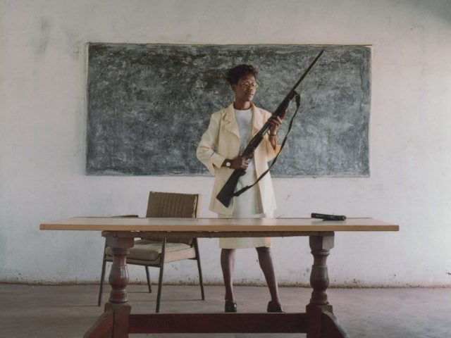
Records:
M175 194L168 192L150 192L147 204L146 217L171 217L171 218L196 218L200 203L199 194ZM120 217L137 217L128 215ZM147 285L149 292L152 292L150 283L149 266L160 268L158 293L156 296L155 312L160 311L161 282L163 281L163 267L165 263L192 259L197 261L199 270L199 284L202 300L205 299L204 283L202 282L202 269L200 264L199 246L197 238L154 238L146 237L135 241L135 245L130 249L127 257L127 264L144 265L146 269ZM104 249L104 258L101 267L101 280L99 290L99 300L105 279L106 262L113 261L112 251L109 246Z

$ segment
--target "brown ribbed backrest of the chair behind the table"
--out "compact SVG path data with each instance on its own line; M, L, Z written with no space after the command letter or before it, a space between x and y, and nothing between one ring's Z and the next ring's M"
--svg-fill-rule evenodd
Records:
M199 204L199 194L150 192L146 217L197 218ZM161 240L154 237L146 239ZM192 244L192 238L168 238L167 242Z

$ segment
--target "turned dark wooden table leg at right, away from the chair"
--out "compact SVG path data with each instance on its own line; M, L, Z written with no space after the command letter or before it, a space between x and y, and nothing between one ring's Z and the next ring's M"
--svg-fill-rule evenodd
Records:
M309 242L314 263L310 275L313 292L307 305L307 338L349 338L333 315L326 293L329 286L326 260L333 248L334 234L310 236Z

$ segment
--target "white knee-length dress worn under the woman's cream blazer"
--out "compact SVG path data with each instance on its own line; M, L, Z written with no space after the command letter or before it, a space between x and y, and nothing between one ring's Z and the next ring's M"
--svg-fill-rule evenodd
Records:
M245 150L247 144L251 140L252 128L252 110L237 111L235 109L235 118L238 127L240 128L240 154ZM253 184L257 180L255 173L254 159L249 161L245 175L240 177L237 184L237 190ZM218 213L218 218L265 218L273 217L273 215L266 215L262 213L261 197L259 185L248 189L240 196L233 197L235 200L235 207L232 215L222 215ZM220 238L219 247L221 249L245 249L257 248L259 246L271 246L270 237L243 237L243 238Z

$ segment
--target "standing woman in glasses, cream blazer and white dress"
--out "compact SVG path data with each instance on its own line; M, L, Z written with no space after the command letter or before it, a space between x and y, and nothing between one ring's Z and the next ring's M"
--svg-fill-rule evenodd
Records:
M211 115L210 124L202 135L197 147L197 158L213 174L214 189L211 195L210 210L218 213L219 218L264 218L273 217L276 209L271 176L264 176L252 189L234 197L228 207L216 199L216 195L235 169L245 169L240 177L237 189L255 182L257 177L268 169L268 161L274 156L278 146L277 132L282 120L271 115L252 103L257 91L257 70L252 65L237 65L228 70L227 80L235 93L235 100L227 108ZM252 157L242 157L252 136L269 121L271 128L255 149ZM221 268L226 286L226 312L237 312L237 303L233 293L233 268L235 249L256 248L259 264L263 270L271 294L268 312L283 312L278 296L276 272L271 257L270 238L221 238Z

